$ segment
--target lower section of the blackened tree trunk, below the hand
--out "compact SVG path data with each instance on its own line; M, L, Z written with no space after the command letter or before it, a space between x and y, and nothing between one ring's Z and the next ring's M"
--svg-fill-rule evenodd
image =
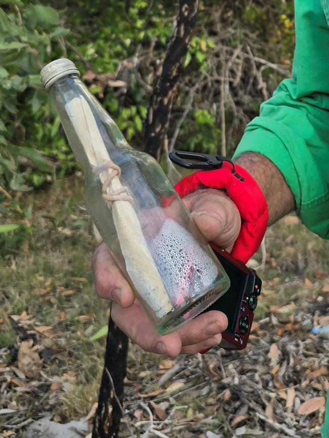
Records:
M128 337L109 319L105 364L92 438L118 436L127 369Z

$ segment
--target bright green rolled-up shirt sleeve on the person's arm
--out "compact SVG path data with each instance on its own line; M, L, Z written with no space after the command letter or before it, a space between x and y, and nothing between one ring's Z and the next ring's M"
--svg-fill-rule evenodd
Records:
M329 238L329 0L295 0L293 77L246 127L234 158L268 157L282 172L303 223Z

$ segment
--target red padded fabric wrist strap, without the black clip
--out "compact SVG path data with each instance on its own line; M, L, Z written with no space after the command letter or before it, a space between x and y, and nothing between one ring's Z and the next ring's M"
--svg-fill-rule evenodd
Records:
M232 256L243 263L256 253L265 235L268 222L267 202L255 179L242 167L235 164L236 172L244 180L232 173L232 164L223 162L217 170L202 170L183 178L175 189L181 198L198 188L226 190L241 216L241 230L235 241Z

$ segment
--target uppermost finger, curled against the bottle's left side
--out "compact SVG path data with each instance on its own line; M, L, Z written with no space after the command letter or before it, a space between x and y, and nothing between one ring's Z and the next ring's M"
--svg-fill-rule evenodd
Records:
M119 306L130 307L135 300L132 288L121 274L104 242L96 249L92 265L97 294Z

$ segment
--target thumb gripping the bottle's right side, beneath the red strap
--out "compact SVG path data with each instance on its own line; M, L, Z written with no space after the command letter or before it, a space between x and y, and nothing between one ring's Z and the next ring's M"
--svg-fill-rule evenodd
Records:
M197 190L183 202L203 236L230 252L240 232L241 218L226 192L212 188Z

